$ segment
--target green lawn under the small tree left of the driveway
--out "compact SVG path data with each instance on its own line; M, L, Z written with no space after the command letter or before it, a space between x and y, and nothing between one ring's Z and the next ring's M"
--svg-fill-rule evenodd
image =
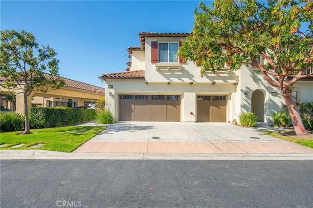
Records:
M55 128L31 129L32 134L22 135L22 131L0 133L0 149L44 149L60 152L72 152L77 147L106 129L106 126L65 126ZM10 146L25 144L17 148ZM36 144L44 144L30 148Z

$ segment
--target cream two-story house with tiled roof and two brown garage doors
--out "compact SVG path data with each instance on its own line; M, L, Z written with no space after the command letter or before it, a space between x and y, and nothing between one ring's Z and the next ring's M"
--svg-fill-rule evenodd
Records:
M128 48L126 71L99 77L106 83L106 106L116 120L232 122L242 111L252 110L270 123L273 111L284 104L280 89L245 65L237 71L225 65L201 77L194 62L176 57L189 35L140 32L140 47ZM294 85L296 100L313 102L312 78Z

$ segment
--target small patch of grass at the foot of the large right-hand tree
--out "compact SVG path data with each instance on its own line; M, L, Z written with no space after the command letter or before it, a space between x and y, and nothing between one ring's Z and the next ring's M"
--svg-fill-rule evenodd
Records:
M263 131L262 133L313 148L313 135L297 136L294 131ZM311 134L313 131L311 131Z

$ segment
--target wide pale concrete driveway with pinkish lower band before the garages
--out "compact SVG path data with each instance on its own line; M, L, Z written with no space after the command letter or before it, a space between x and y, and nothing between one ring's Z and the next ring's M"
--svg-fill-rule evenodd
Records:
M117 122L76 153L301 154L313 149L227 123Z

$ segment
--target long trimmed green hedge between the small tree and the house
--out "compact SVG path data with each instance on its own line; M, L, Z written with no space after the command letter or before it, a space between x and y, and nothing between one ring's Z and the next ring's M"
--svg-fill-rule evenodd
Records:
M73 125L95 118L95 109L31 107L29 111L29 123L32 128Z

